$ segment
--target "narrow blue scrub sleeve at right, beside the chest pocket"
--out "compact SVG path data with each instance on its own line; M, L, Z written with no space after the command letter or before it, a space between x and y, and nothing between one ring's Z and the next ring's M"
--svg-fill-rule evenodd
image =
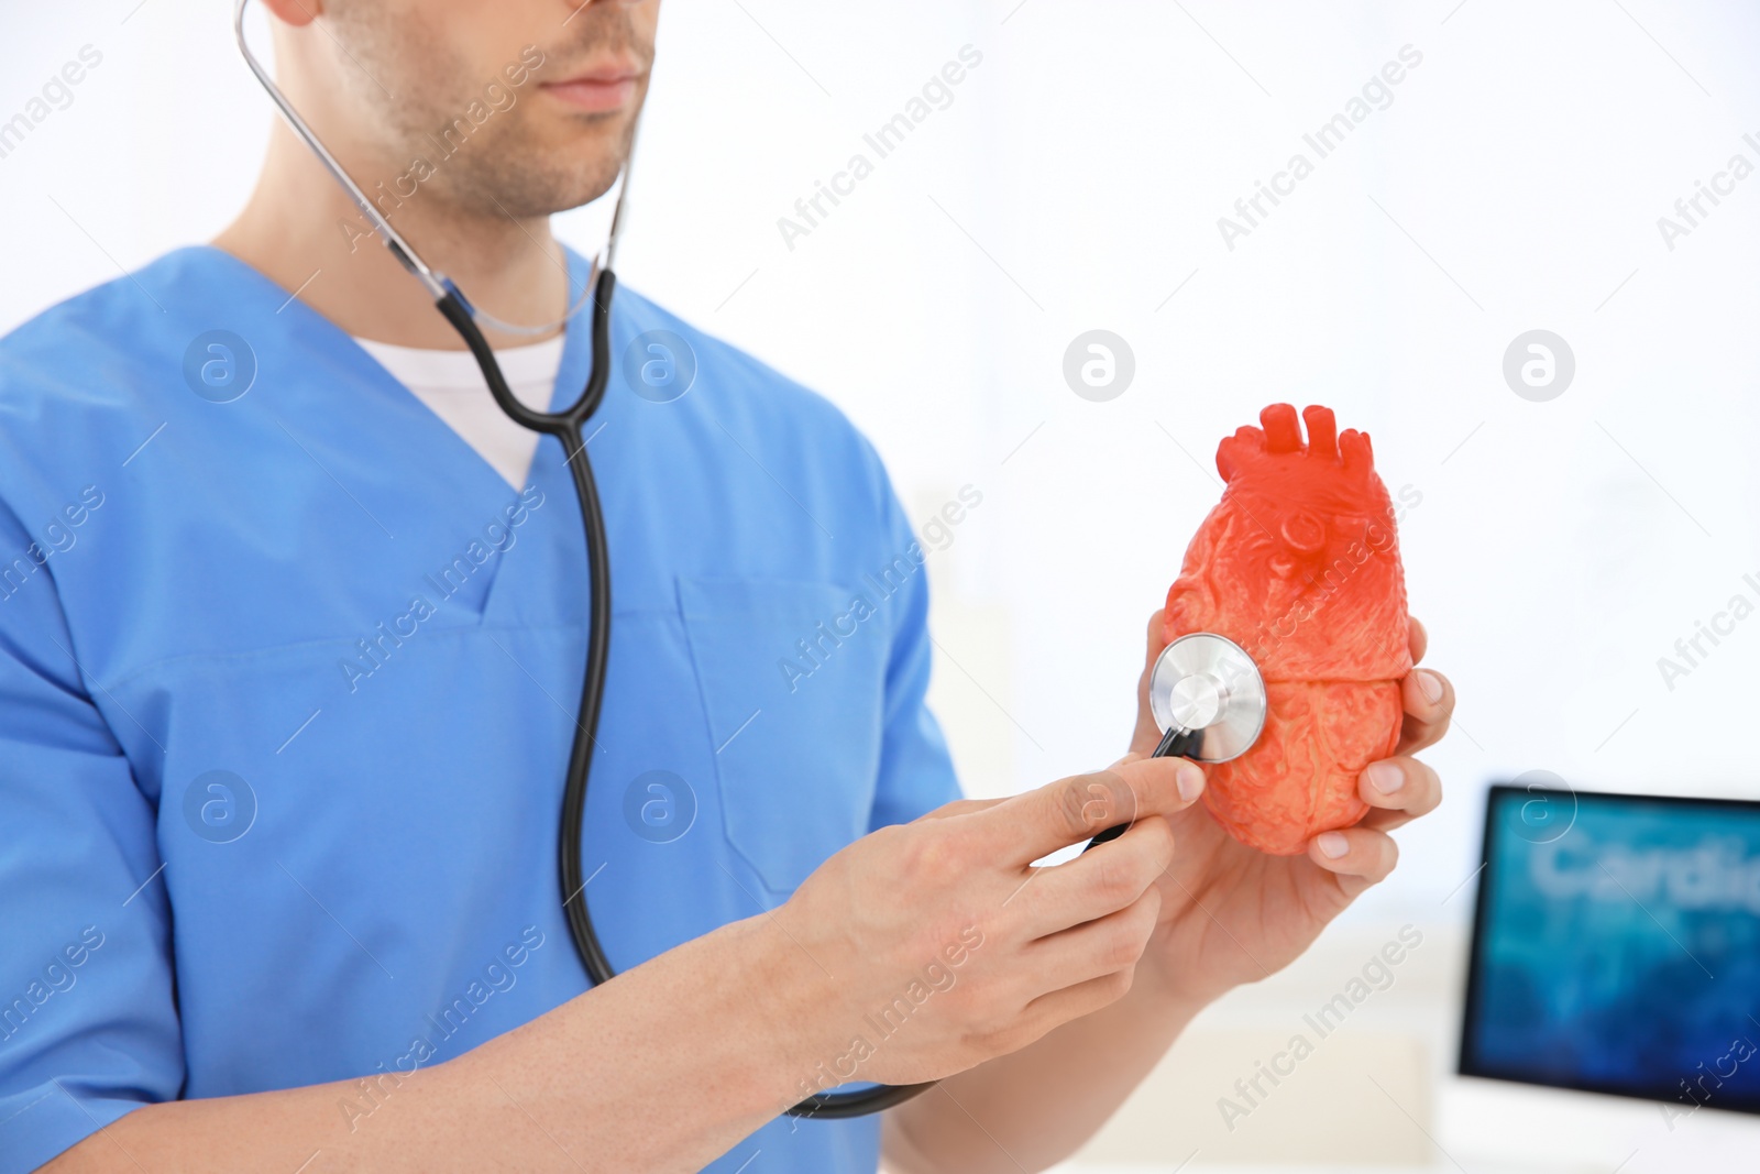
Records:
M875 458L878 466L878 458ZM922 556L910 521L880 472L885 510L885 558L905 551ZM929 641L929 576L919 565L892 597L892 651L885 672L885 715L880 736L880 781L875 789L873 817L868 829L908 824L935 808L961 797L954 762L940 722L929 713L929 665L935 644Z

